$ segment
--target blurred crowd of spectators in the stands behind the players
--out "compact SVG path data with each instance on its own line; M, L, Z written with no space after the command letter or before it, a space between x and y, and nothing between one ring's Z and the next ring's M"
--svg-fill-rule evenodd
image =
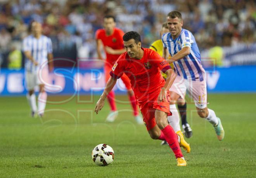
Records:
M256 41L254 0L1 0L0 54L21 50L31 22L38 21L54 51L75 45L78 57L97 57L94 35L105 15L116 16L125 32L138 31L149 47L172 10L182 12L183 28L194 34L201 50Z

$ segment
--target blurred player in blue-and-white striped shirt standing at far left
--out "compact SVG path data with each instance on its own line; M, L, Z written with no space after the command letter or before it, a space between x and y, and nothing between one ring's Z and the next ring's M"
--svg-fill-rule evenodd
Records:
M23 40L23 51L26 57L27 99L31 107L31 116L35 117L36 112L38 112L38 116L42 117L47 100L44 83L47 82L48 71L53 70L52 41L47 36L42 35L42 25L39 22L32 22L31 31L32 34ZM39 85L38 108L34 90L37 85Z

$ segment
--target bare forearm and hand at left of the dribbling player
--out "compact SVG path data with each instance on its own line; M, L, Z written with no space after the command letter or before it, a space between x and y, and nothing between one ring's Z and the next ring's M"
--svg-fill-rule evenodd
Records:
M107 81L106 88L104 89L102 95L100 96L100 99L98 100L98 102L95 106L94 112L96 112L96 114L98 114L98 112L104 106L105 99L106 99L107 95L109 94L109 92L111 92L112 88L114 88L114 86L116 85L116 81L117 81L117 79L115 79L113 77L110 77L109 80Z

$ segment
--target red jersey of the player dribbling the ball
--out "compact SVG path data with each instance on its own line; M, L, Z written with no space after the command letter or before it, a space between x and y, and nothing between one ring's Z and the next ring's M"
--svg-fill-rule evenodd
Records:
M113 78L120 78L123 73L128 76L139 105L152 101L159 95L165 84L161 71L165 73L171 69L168 62L154 50L142 50L142 59L131 59L127 52L121 54L110 72Z

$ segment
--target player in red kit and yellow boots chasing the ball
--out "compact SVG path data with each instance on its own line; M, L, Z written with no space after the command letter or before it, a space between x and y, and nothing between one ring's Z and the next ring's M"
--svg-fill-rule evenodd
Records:
M190 146L185 142L182 133L176 134L167 121L167 114L170 114L168 89L176 78L176 74L168 62L157 52L141 47L140 35L137 32L126 33L123 40L126 52L121 54L114 63L110 72L111 77L107 81L106 88L100 96L94 112L98 114L102 109L116 80L125 73L131 81L131 87L150 137L166 140L175 154L177 165L186 166L187 162L182 155L180 146L187 152L190 152ZM167 75L166 81L162 77L161 71Z

